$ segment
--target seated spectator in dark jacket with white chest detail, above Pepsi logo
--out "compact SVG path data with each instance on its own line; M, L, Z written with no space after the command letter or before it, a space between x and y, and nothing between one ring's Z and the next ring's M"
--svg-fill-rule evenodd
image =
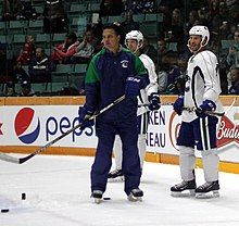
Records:
M29 64L29 77L32 83L48 83L51 80L51 63L45 53L43 47L36 49L36 58Z

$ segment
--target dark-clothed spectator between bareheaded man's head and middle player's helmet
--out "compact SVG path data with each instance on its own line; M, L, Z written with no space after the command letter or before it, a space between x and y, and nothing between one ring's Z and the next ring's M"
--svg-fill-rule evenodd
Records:
M140 26L138 22L134 21L133 11L128 10L124 14L125 20L121 23L121 45L125 46L125 36L131 30L139 30Z

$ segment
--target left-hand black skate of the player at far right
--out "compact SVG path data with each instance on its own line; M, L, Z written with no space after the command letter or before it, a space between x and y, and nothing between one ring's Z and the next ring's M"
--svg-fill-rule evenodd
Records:
M189 193L188 193L189 191ZM180 184L177 184L171 187L172 197L191 197L194 196L196 191L196 180L183 180Z

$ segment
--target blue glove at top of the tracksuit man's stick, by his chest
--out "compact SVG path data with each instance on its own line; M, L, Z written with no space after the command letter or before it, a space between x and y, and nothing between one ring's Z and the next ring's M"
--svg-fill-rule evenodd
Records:
M129 75L126 78L125 96L126 98L137 97L141 89L141 78L139 76Z

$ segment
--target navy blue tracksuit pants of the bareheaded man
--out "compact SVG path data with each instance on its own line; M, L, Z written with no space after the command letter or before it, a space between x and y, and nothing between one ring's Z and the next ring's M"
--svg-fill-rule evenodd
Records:
M122 170L125 175L125 192L139 187L140 162L138 155L137 118L124 122L97 122L98 147L91 167L91 190L105 191L108 174L112 165L112 149L115 135L118 134L123 143Z

